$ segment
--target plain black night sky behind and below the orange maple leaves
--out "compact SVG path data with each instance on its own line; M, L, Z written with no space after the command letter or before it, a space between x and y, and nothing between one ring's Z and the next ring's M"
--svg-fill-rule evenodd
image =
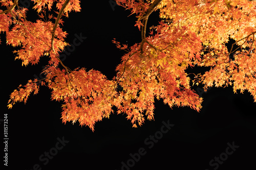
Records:
M66 40L73 44L61 54L66 66L93 68L109 79L115 76L115 68L125 52L116 48L113 38L131 46L139 43L141 37L134 27L135 15L127 17L130 11L113 3L83 1L81 12L70 13L69 18L63 19L62 28L69 34ZM157 19L155 12L147 26L157 25ZM256 103L247 91L234 94L231 87L212 87L202 93L202 86L196 86L193 89L204 98L200 112L189 107L170 109L156 100L155 121L145 120L143 126L132 128L131 120L114 113L110 119L96 123L92 132L78 122L63 124L60 119L62 103L51 101L50 90L45 86L40 87L38 94L31 95L26 104L17 103L8 110L9 95L19 84L44 78L40 72L48 58L24 67L21 60L14 60L14 48L5 44L4 34L1 41L4 98L0 123L3 128L3 116L8 114L7 169L254 167L255 156L251 155L256 152Z

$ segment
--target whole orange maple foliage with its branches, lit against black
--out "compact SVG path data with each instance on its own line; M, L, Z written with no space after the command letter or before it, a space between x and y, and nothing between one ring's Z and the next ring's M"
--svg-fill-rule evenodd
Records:
M60 24L62 16L80 11L78 0L40 0L34 2L38 12L35 22L26 19L26 8L18 0L1 1L0 31L6 43L19 50L15 59L22 65L37 64L40 57L49 57L42 71L46 78L29 80L10 95L8 107L26 103L39 86L51 89L52 100L62 101L62 122L78 121L94 130L97 121L117 114L126 114L133 127L154 119L154 99L165 104L189 106L197 111L203 101L191 84L232 86L233 91L248 90L256 102L256 55L254 35L255 2L247 0L117 0L116 3L135 14L135 26L141 42L131 47L113 40L122 56L117 75L108 80L101 72L85 68L71 70L59 59L65 46L66 32ZM57 14L46 15L56 6ZM161 21L148 28L148 17L159 10ZM54 15L56 15L54 17ZM54 20L54 22L52 22ZM236 42L231 49L225 45ZM60 66L61 65L61 66ZM63 68L61 68L63 67ZM202 74L186 72L188 68L206 67ZM38 84L40 82L40 84ZM118 90L117 87L122 87Z

